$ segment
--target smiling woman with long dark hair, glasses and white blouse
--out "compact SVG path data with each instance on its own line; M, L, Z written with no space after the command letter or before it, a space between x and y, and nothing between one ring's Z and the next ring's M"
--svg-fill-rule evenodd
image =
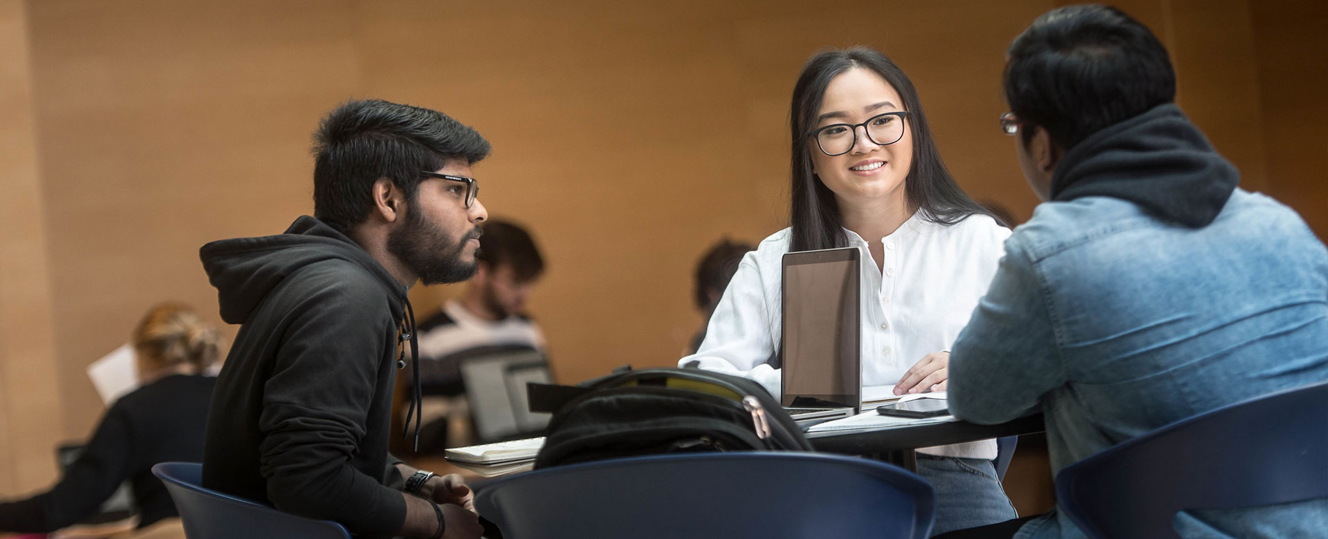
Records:
M985 293L1009 231L955 183L918 93L867 48L807 61L790 110L790 227L738 266L697 362L781 393L781 259L790 251L862 254L863 398L946 388L950 345ZM919 450L944 532L1015 518L996 479L996 442Z

